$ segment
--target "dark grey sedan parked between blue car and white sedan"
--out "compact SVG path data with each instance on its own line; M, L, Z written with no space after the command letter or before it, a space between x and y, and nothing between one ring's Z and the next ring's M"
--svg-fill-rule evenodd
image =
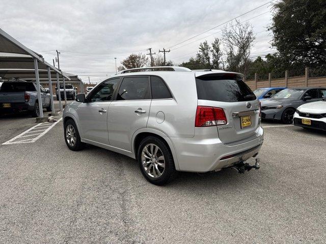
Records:
M305 103L322 100L326 88L300 87L287 88L269 99L261 101L261 117L263 119L281 120L284 124L292 124L295 109Z

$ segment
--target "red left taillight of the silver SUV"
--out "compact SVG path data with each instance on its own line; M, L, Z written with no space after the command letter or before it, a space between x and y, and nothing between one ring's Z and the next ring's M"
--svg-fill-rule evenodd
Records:
M219 126L227 123L222 108L197 106L195 127Z

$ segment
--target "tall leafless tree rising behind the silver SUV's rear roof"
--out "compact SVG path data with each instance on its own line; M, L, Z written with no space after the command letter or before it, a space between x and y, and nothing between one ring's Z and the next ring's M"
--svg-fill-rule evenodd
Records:
M248 57L254 45L255 36L249 22L235 20L223 29L223 44L227 53L227 69L246 75Z

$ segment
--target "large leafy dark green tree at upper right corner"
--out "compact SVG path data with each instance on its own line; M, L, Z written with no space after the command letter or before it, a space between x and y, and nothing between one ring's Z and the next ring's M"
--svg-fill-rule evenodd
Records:
M290 67L326 65L326 1L282 0L274 4L269 29L279 62Z

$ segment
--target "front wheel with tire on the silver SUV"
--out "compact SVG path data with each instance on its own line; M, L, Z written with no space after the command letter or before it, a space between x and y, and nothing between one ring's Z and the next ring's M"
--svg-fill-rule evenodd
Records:
M68 119L64 125L64 137L68 148L72 151L83 149L84 143L80 141L79 132L75 121Z

